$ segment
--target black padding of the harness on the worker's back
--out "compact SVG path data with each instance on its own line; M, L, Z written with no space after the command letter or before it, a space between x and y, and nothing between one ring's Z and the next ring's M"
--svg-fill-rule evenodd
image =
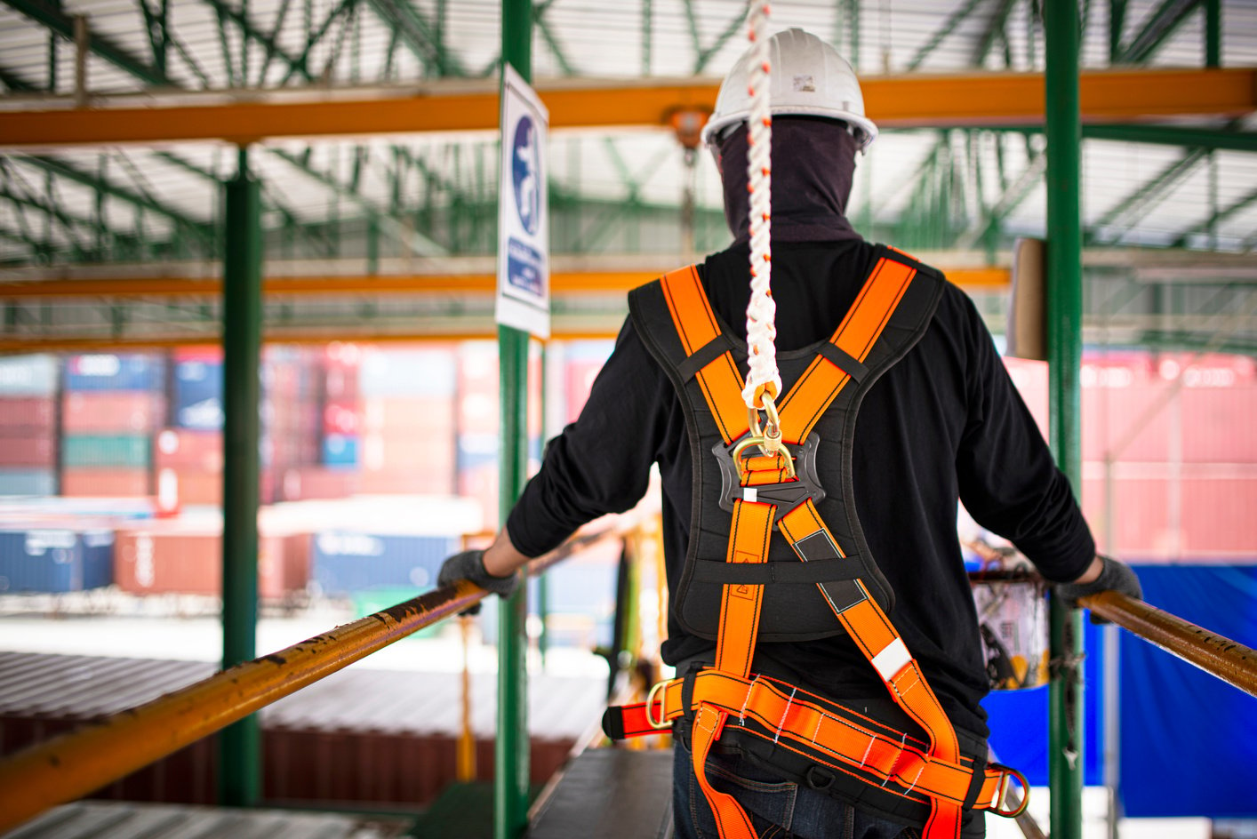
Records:
M856 584L852 580L859 578L881 608L891 610L894 593L877 569L856 517L855 487L851 481L852 437L865 393L925 334L943 293L944 279L936 270L884 246L877 247L876 257L875 264L881 259L894 260L909 265L916 273L864 363L830 342L813 344L802 352L779 353L777 357L787 394L791 384L817 354L825 355L851 376L851 381L813 428L813 435L818 437L816 481L825 490L823 497L813 497L813 501L838 544L803 546L810 560L815 555L813 561L803 564L784 539L773 539L767 570L729 571L755 575L755 579L747 580L733 580L711 568L714 564L725 564L729 546L730 517L719 505L723 495L722 470L718 458L711 455L713 448L724 446L724 440L701 387L694 378L698 371L725 350L733 353L734 362L745 376L745 342L735 338L727 324L719 323L720 317L713 310L720 335L693 355L686 355L676 334L662 284L656 280L630 293L628 311L634 327L672 383L689 433L695 492L690 520L683 522L683 526L688 524L689 536L685 565L671 600L674 614L685 632L709 641L716 639L722 588L728 582L764 583L758 637L760 642L812 641L843 632L825 598L816 590L817 584L826 587L835 603L846 603L856 599ZM782 398L778 398L778 403ZM791 484L777 486L793 489ZM766 500L771 497L772 487L757 489L766 492ZM793 502L783 505L779 512L787 512L791 506ZM841 549L846 559L838 560L835 548ZM813 564L826 570L794 570L811 568ZM850 565L851 570L838 570L841 564ZM791 570L786 570L787 566ZM767 576L760 578L759 574ZM821 574L821 578L813 578L812 574Z

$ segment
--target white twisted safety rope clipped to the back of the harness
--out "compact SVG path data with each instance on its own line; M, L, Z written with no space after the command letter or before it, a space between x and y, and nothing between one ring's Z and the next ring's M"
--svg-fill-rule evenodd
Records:
M752 62L748 73L750 116L748 118L747 176L750 187L750 303L747 305L747 354L750 371L742 397L747 408L763 408L763 394L776 398L782 389L777 369L777 304L772 280L772 114L769 104L768 3L750 6Z

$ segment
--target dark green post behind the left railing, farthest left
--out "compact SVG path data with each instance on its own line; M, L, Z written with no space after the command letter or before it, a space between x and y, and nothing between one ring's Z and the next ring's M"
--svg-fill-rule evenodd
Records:
M222 257L222 667L256 657L258 631L258 364L261 354L261 190L249 154L226 185ZM258 717L222 730L219 801L250 806L261 798Z

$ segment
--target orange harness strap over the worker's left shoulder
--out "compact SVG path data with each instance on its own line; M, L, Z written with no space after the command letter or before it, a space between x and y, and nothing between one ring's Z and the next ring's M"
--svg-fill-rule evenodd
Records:
M660 280L667 310L672 315L672 325L680 335L686 355L693 355L720 335L711 303L703 291L703 281L693 265L669 271ZM742 398L742 373L733 360L733 353L725 352L696 374L703 388L703 397L725 445L747 432L747 404Z

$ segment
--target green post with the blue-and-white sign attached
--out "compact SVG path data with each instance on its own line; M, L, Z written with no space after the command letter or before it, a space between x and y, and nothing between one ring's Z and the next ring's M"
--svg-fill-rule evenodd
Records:
M502 0L502 60L533 78L532 0ZM504 139L503 142L508 142ZM498 177L510 177L499 172ZM528 462L528 333L498 327L502 388L500 516L524 486ZM498 740L494 744L493 835L517 839L528 826L528 587L502 604L498 623Z

